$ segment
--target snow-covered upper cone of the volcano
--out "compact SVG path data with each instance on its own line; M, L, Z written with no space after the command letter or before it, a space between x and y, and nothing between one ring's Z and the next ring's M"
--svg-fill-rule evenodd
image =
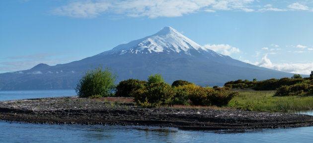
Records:
M171 27L164 27L154 35L131 41L127 44L116 46L110 51L103 52L99 55L106 54L152 54L152 53L171 53L195 56L193 53L210 53L211 55L220 55L216 52L206 49L196 42L185 37L177 30ZM222 55L220 55L222 56Z

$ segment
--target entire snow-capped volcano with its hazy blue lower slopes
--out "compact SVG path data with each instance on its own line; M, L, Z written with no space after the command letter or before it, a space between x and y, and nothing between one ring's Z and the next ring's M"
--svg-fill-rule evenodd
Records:
M0 74L0 90L75 88L82 72L91 66L111 67L118 82L146 80L161 73L165 81L188 80L198 85L223 85L229 80L291 77L292 73L260 68L206 49L171 27L154 35L121 44L80 61Z

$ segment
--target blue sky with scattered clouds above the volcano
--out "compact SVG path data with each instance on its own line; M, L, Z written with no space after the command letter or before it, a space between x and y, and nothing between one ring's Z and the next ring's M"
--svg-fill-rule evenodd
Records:
M313 70L312 0L0 0L0 73L90 57L171 26L236 60Z

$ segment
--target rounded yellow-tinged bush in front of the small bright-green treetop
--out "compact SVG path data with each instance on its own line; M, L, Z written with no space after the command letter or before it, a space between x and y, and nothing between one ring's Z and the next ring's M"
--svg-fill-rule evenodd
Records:
M145 89L139 89L133 92L134 101L139 106L151 104L151 107L169 104L175 91L171 85L164 82L151 83ZM143 105L143 103L146 103Z

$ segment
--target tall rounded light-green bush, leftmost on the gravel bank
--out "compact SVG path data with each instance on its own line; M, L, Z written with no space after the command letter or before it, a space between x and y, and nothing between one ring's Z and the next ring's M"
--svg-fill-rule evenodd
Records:
M114 93L117 75L110 68L102 69L103 67L100 65L93 70L85 72L85 75L78 81L75 88L79 97L91 97L94 95L107 97Z

